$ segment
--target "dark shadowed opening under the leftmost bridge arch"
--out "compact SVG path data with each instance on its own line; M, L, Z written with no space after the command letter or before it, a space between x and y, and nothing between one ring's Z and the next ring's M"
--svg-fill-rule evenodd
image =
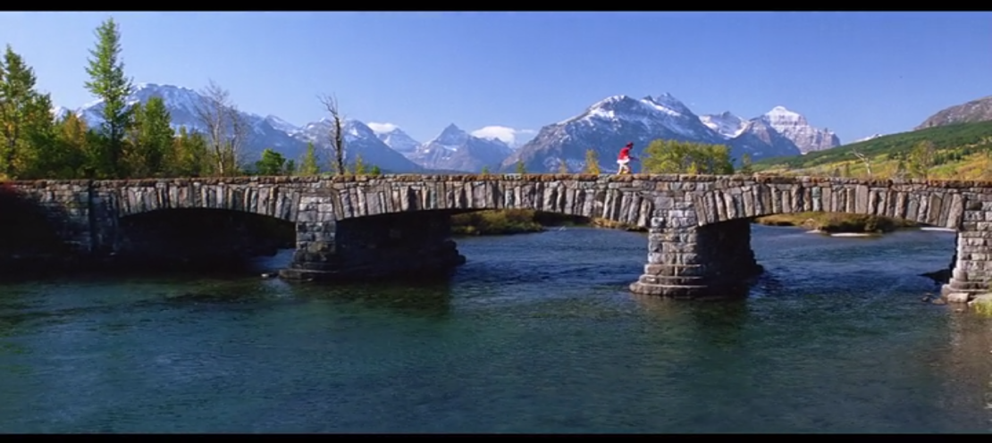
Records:
M127 269L229 271L295 246L294 223L228 209L168 208L118 220L115 262Z

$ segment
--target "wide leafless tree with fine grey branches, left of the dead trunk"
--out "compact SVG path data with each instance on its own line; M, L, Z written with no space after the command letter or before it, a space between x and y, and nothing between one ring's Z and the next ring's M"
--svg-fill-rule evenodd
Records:
M217 173L237 173L247 125L231 102L230 93L212 79L199 91L201 99L194 105L196 118L206 130L206 139Z

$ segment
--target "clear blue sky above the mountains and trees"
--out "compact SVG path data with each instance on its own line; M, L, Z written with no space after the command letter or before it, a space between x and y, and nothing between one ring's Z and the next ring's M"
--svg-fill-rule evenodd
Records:
M615 94L670 92L696 114L776 105L848 142L911 130L992 94L989 13L0 13L0 44L59 105L92 100L106 17L136 82L200 88L302 125L335 93L347 117L420 141L538 130Z

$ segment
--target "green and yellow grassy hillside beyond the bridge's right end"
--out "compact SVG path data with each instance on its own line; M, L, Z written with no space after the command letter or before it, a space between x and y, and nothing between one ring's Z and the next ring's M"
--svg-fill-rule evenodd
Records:
M843 174L846 169L851 176L865 176L864 163L853 154L856 151L870 159L874 176L891 177L900 157L909 155L923 141L932 142L935 148L931 178L992 178L992 122L893 134L806 156L766 159L756 162L753 167L760 172L798 175Z

